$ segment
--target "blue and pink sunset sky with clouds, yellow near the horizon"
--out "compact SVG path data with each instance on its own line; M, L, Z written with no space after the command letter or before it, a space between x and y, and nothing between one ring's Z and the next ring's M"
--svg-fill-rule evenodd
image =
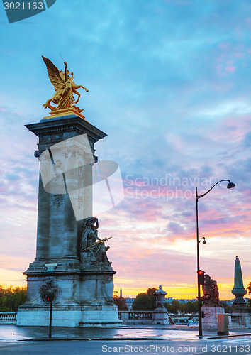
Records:
M235 256L251 281L251 4L249 0L60 1L8 23L0 4L0 285L25 285L35 258L38 138L54 90L41 58L74 72L79 106L107 134L99 160L118 163L125 197L96 216L113 236L115 290L162 285L196 298L196 201L201 268L232 299ZM62 55L62 58L60 57ZM82 90L82 91L81 91Z

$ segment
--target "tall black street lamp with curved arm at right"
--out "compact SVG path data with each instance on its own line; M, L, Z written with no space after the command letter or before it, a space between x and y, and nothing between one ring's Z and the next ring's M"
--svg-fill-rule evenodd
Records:
M230 190L233 190L235 188L235 184L233 182L230 182L230 180L220 180L218 182L216 182L216 184L214 184L211 189L209 189L207 192L205 192L202 195L198 195L198 190L196 187L196 237L197 237L197 285L198 285L198 316L199 316L199 337L202 337L202 321L201 321L201 283L200 283L200 275L199 275L199 244L201 242L201 240L203 239L203 244L206 244L206 240L205 238L201 238L201 240L199 241L199 224L198 224L198 200L201 197L204 197L208 194L208 192L210 192L213 187L215 187L219 182L223 182L223 181L228 181L228 185L227 188Z

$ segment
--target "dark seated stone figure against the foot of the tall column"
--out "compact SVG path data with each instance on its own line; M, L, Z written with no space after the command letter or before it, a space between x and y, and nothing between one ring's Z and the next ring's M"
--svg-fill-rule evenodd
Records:
M109 246L105 246L106 238L100 239L98 236L99 221L96 217L89 217L82 225L82 240L80 244L80 259L82 263L99 264L107 263L106 251Z

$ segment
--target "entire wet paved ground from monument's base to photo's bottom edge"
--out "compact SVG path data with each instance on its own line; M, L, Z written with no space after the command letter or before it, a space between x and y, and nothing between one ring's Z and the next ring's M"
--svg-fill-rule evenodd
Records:
M197 329L177 327L124 327L117 329L52 328L0 325L0 354L229 354L251 355L250 329L230 332L218 338L216 331L204 332L198 339ZM247 333L250 333L247 335ZM244 335L246 334L246 335ZM213 339L215 337L215 339Z

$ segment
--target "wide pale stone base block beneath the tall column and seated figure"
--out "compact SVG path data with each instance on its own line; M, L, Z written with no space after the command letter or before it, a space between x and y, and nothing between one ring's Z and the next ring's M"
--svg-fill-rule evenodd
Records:
M40 286L53 280L61 289L52 306L57 327L114 327L121 324L113 304L113 274L107 271L34 271L27 277L27 300L18 308L17 325L48 325L49 304L40 297ZM31 274L31 275L30 275Z

